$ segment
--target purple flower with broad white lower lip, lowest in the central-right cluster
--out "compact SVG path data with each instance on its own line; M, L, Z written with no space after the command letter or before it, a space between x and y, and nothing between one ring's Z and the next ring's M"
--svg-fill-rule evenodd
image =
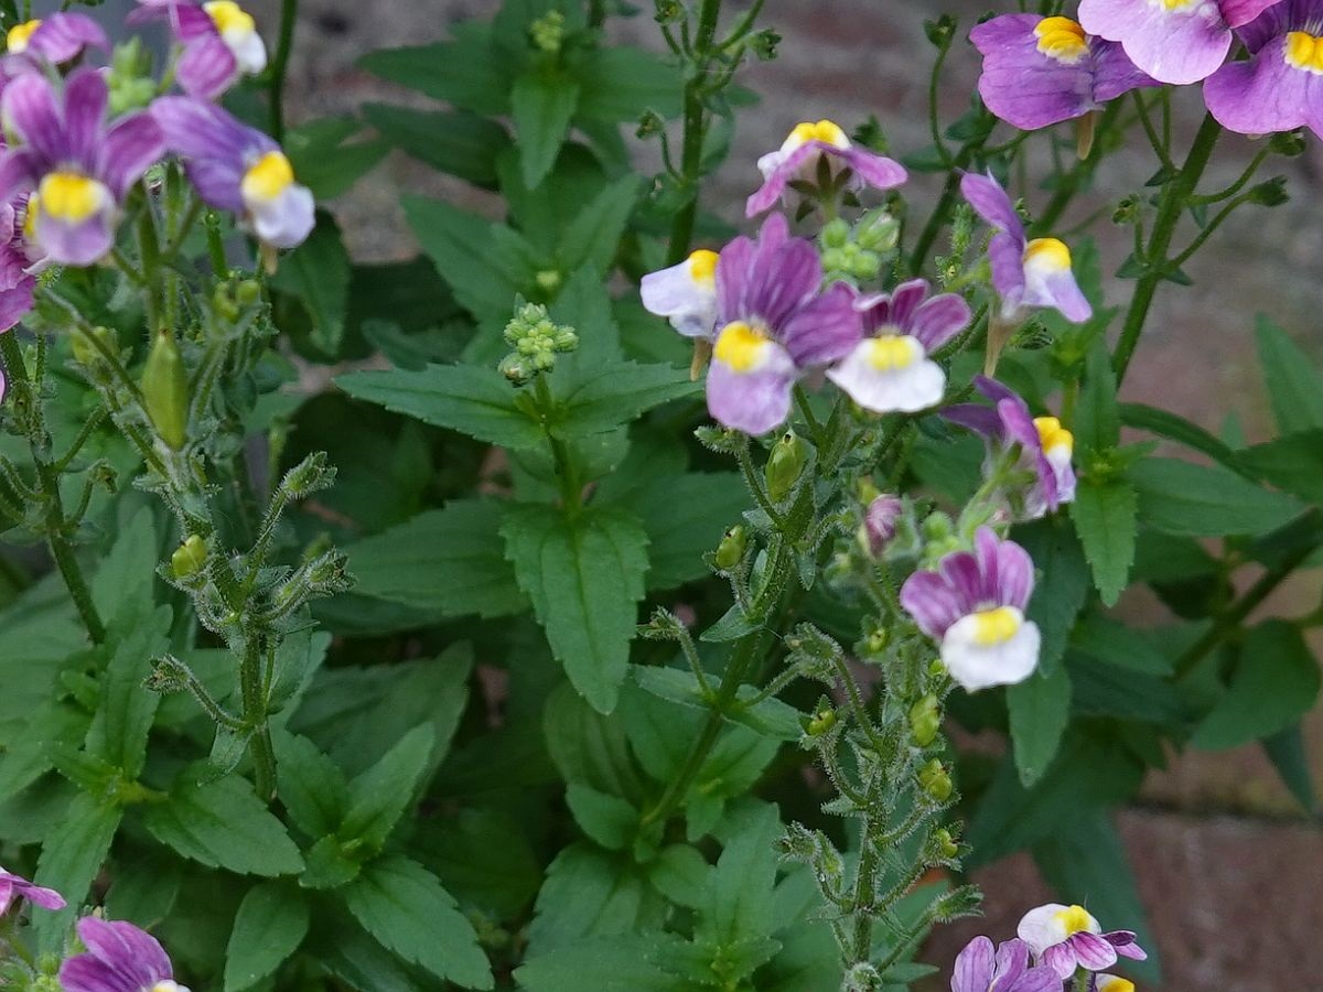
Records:
M901 606L929 638L942 664L970 692L1012 685L1039 664L1039 626L1024 619L1033 593L1033 562L1013 541L979 528L972 552L953 552L937 571L916 571Z

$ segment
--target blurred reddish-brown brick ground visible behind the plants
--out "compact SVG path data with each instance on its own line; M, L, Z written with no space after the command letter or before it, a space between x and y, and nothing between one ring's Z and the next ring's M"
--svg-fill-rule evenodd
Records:
M271 44L278 1L247 5ZM615 30L636 44L659 46L651 5L639 5L644 8L640 15ZM300 0L287 90L291 124L381 99L426 106L429 101L418 94L357 70L356 58L377 48L439 40L450 22L488 17L496 7L493 0ZM709 184L705 206L738 222L744 198L755 185L754 160L779 145L799 120L830 116L851 130L876 115L896 153L927 144L931 48L922 21L953 13L963 38L987 9L968 0L769 0L762 22L783 36L781 53L771 63L747 66L740 77L761 103L738 116L732 156ZM942 86L945 120L968 107L978 70L978 54L958 42ZM1201 116L1197 90L1181 98L1177 120L1191 132ZM1070 209L1064 229L1140 186L1155 168L1142 145L1139 140L1107 160L1095 192ZM1224 136L1209 185L1234 179L1253 152L1246 139ZM1304 156L1274 164L1290 173L1291 202L1240 212L1188 266L1193 288L1162 288L1125 399L1158 403L1215 433L1230 417L1233 430L1259 440L1266 436L1267 406L1254 358L1254 315L1267 313L1311 357L1323 360L1323 148L1311 142ZM931 197L938 184L938 177L918 177L908 194ZM450 197L475 210L497 206L394 152L331 204L356 258L388 261L417 253L398 208L404 190ZM1109 214L1094 229L1103 269L1114 271L1129 249L1117 238ZM1127 231L1121 234L1129 238ZM1126 292L1127 284L1110 284L1113 303L1123 302ZM1320 578L1307 574L1279 590L1263 612L1306 612L1319 598ZM1122 610L1140 619L1159 619L1159 608L1135 597L1122 603ZM1323 712L1312 714L1308 747L1319 776ZM1318 784L1323 788L1323 778ZM1140 802L1122 811L1119 821L1162 951L1164 988L1323 989L1323 829L1301 811L1257 747L1174 754L1170 770L1148 779ZM1007 938L1024 910L1049 898L1025 856L986 869L976 880L987 893L987 918L934 936L925 960L943 971L971 935ZM1072 898L1088 902L1089 893Z

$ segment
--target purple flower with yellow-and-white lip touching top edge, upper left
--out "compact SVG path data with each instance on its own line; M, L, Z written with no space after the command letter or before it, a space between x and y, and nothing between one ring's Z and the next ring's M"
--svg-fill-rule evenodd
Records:
M189 97L216 99L241 75L266 69L266 44L253 16L234 0L138 0L130 24L168 20L184 52L175 78Z

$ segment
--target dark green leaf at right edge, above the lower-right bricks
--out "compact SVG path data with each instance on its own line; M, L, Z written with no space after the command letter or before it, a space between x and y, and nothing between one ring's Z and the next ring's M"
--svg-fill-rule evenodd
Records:
M1230 685L1189 743L1224 750L1278 734L1312 709L1319 682L1318 661L1299 628L1267 620L1245 638Z

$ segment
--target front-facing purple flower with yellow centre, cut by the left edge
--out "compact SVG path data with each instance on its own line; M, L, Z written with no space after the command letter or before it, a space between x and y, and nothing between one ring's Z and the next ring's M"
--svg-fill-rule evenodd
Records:
M73 73L62 94L30 73L0 97L4 123L20 142L0 159L0 201L36 190L25 233L52 262L86 266L108 253L124 196L164 151L147 114L106 127L106 82L94 69Z

